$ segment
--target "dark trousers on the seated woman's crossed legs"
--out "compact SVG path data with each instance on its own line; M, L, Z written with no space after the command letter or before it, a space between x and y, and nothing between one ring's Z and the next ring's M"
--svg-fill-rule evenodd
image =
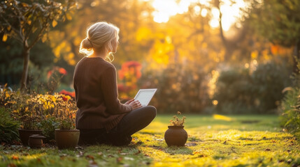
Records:
M131 135L147 127L155 116L154 106L143 106L127 113L110 132L105 129L80 129L78 145L129 145Z

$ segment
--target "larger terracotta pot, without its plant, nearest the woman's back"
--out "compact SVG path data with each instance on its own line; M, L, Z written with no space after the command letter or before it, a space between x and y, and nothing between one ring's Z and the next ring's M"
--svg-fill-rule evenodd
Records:
M59 149L75 148L79 141L78 129L55 129L55 141Z

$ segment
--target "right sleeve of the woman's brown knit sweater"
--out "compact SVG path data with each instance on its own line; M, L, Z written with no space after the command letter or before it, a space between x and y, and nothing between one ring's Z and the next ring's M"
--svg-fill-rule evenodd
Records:
M108 67L101 77L101 90L108 113L120 114L132 110L132 106L121 104L117 93L117 75L115 67Z

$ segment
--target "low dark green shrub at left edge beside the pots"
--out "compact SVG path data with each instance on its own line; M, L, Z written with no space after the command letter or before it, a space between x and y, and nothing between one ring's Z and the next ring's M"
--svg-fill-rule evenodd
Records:
M18 140L17 129L20 122L10 116L10 109L0 106L0 142L11 143Z

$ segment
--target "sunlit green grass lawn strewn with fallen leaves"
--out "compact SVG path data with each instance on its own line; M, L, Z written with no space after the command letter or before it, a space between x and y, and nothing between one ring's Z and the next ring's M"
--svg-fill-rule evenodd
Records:
M300 166L300 143L278 116L185 115L185 147L168 147L164 132L173 115L160 115L127 147L94 145L0 147L0 166Z

